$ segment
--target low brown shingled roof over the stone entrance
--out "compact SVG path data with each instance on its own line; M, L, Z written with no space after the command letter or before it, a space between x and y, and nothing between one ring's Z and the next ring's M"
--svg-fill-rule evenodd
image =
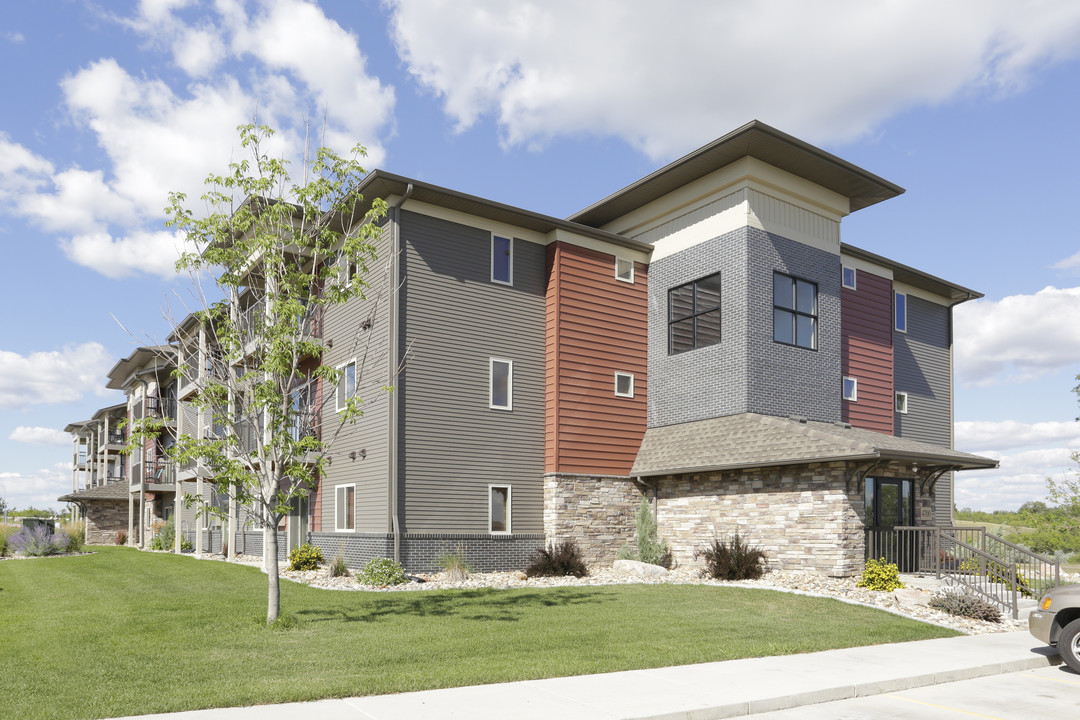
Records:
M745 412L650 427L630 474L644 477L841 460L906 460L957 470L998 466L990 458L840 423Z

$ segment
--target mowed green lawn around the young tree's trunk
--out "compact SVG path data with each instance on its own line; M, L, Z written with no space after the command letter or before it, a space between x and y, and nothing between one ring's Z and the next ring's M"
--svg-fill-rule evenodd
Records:
M341 593L256 568L98 547L0 561L3 717L102 718L812 652L956 635L769 590Z

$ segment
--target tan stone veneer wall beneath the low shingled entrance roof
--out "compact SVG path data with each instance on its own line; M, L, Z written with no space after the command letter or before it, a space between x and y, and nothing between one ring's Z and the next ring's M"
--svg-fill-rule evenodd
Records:
M768 565L834 576L862 571L864 486L847 463L785 465L658 478L658 525L678 563L714 536L734 532L760 546ZM915 477L891 463L873 476ZM916 522L933 499L915 484Z

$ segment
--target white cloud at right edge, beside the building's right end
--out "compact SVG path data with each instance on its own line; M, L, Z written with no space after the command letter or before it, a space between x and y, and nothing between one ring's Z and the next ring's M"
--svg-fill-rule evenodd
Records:
M956 373L966 384L1025 382L1080 362L1080 287L982 299L956 309Z

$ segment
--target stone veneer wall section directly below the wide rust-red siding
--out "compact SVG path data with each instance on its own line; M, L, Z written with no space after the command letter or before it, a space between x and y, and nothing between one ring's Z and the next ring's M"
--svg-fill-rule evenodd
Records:
M642 490L629 477L545 475L543 531L548 542L572 540L589 565L612 562L634 543Z

